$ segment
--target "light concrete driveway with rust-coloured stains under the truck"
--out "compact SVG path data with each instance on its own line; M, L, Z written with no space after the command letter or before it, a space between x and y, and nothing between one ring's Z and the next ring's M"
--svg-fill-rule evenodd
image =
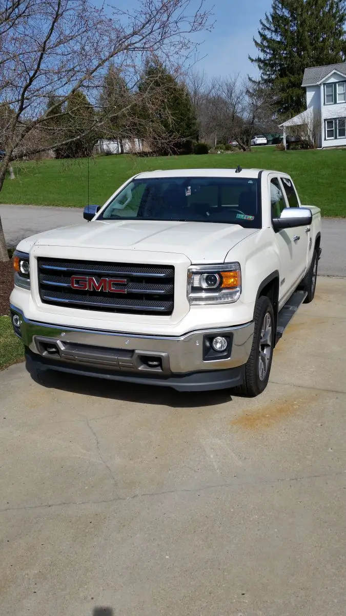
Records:
M257 399L0 373L2 614L344 616L345 298Z

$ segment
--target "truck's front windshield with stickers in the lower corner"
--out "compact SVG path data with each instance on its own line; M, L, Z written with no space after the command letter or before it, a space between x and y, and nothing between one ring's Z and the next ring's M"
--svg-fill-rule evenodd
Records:
M135 179L99 220L228 222L260 228L257 178L160 177Z

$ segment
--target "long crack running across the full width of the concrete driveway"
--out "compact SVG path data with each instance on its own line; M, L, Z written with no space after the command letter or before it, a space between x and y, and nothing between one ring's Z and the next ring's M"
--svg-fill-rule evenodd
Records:
M105 464L104 461L103 463ZM232 481L232 482L225 482L225 483L220 483L220 484L204 485L198 488L175 488L174 490L162 490L161 492L142 492L142 493L132 494L131 496L114 496L113 498L107 498L107 499L102 499L102 500L62 501L60 503L46 503L44 505L22 505L22 506L17 506L17 507L6 507L4 509L0 509L0 513L5 513L6 511L26 511L30 509L51 509L52 507L63 507L63 506L106 505L107 503L117 503L117 502L122 502L122 501L135 500L137 498L148 498L148 497L152 498L153 496L168 496L168 495L174 495L174 494L195 494L195 493L207 492L208 490L243 487L244 485L250 485L250 486L251 485L253 486L275 485L275 484L281 484L281 483L310 481L313 479L326 479L328 477L340 477L340 476L346 477L346 470L318 473L318 474L313 474L313 475L303 475L300 477L276 477L275 479L260 479L257 481Z

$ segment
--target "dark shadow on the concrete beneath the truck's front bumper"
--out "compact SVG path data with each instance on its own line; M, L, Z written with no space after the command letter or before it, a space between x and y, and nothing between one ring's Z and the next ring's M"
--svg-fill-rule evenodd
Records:
M232 401L230 389L178 392L171 387L153 387L102 378L88 378L87 376L55 372L54 370L42 371L38 376L36 371L31 370L28 362L26 362L26 370L30 373L33 381L43 387L111 400L142 402L172 408L209 407Z

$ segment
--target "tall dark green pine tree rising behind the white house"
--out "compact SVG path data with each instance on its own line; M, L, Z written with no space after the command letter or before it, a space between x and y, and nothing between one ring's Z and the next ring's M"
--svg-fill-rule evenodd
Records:
M261 83L272 90L278 113L293 116L305 109L304 69L344 62L345 0L273 0L260 20L259 50L250 58Z

